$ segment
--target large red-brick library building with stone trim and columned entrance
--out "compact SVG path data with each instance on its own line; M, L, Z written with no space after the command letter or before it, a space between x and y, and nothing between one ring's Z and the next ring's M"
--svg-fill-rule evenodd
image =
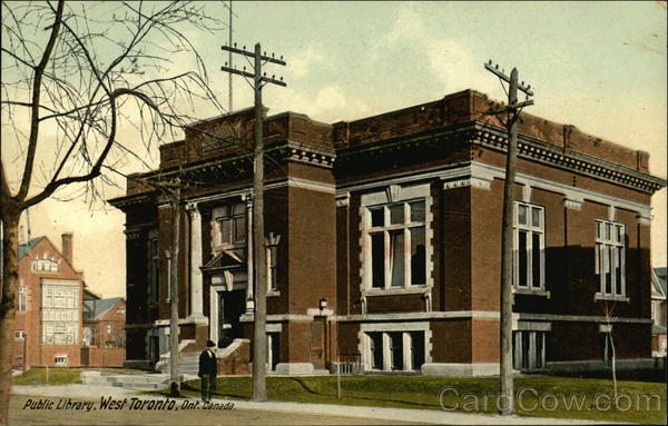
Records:
M178 262L184 354L218 345L245 365L267 286L267 369L480 376L499 373L507 132L465 90L354 121L264 121L266 246L253 246L253 109L198 121L158 170L110 200L126 214L127 365L168 353ZM518 371L650 360L649 155L522 113L514 202ZM146 182L180 177L183 206ZM189 185L188 182L197 182ZM179 220L178 258L169 256ZM253 252L267 254L266 283ZM242 368L244 370L244 368ZM247 368L245 369L247 370Z

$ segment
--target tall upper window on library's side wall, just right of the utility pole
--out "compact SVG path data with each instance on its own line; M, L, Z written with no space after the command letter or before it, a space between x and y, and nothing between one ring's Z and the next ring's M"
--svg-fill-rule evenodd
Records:
M544 209L525 202L514 207L514 288L544 290Z

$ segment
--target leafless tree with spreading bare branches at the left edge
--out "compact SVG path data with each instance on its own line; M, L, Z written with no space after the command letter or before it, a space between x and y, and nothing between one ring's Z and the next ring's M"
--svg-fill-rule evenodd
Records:
M2 1L0 219L0 424L8 423L10 334L18 283L21 212L63 187L100 198L105 171L180 136L198 106L222 111L189 31L220 23L204 6L170 2ZM196 68L170 72L194 57ZM189 60L189 59L188 59ZM137 131L141 150L121 140Z

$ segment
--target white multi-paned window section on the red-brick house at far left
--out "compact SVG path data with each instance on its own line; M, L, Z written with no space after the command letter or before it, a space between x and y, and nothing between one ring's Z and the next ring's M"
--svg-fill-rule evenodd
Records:
M73 345L78 341L78 284L42 285L42 343Z

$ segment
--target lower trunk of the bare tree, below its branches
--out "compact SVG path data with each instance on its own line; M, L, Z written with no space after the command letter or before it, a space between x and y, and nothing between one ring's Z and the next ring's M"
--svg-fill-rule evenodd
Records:
M8 210L8 209L7 209ZM19 283L18 211L3 211L2 220L2 303L0 304L0 425L9 424L11 389L11 334L13 331L17 285Z

